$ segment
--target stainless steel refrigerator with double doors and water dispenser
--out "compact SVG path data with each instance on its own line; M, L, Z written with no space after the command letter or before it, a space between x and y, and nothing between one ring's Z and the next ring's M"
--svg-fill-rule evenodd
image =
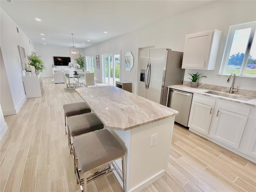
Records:
M141 50L138 95L166 105L167 86L183 83L182 57L183 52L166 48Z

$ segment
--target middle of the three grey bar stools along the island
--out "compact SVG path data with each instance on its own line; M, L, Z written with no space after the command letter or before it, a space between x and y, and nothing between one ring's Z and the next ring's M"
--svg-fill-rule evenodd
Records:
M94 113L71 116L68 118L67 124L68 144L70 146L70 154L72 154L73 157L74 153L71 144L71 136L74 138L75 136L104 128L103 123Z

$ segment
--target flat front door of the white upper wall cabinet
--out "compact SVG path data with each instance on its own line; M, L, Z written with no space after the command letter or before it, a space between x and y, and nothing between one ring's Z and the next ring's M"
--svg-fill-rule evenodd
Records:
M182 68L206 69L213 31L186 35Z

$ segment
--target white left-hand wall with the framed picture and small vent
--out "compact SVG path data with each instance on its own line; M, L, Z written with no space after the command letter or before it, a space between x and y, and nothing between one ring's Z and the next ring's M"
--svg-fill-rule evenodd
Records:
M26 34L24 34L22 29L14 23L2 8L0 10L0 24L0 45L13 101L12 106L4 106L3 112L5 112L5 110L15 110L18 112L26 100L18 45L25 48L27 55L30 54L34 48L32 42L30 44L30 40ZM19 28L19 33L16 31L16 26ZM4 92L5 90L7 90L7 88L1 87L0 91ZM2 102L4 101L1 99L1 103Z

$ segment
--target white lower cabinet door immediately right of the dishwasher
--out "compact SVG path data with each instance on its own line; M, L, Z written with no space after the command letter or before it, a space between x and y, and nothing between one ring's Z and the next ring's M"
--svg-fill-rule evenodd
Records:
M190 117L188 120L189 128L193 128L194 130L208 134L213 110L214 107L212 106L192 102Z

